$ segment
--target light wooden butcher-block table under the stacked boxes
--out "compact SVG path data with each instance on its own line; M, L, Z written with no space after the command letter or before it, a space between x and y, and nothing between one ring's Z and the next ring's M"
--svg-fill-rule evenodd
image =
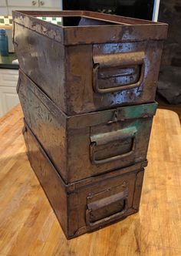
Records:
M21 129L17 106L0 120L1 256L181 255L181 133L176 113L157 110L140 212L71 241L31 170Z

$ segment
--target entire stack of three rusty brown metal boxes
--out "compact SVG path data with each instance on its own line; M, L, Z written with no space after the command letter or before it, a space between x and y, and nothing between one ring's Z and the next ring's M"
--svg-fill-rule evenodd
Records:
M166 24L78 11L13 19L28 158L66 237L137 212Z

